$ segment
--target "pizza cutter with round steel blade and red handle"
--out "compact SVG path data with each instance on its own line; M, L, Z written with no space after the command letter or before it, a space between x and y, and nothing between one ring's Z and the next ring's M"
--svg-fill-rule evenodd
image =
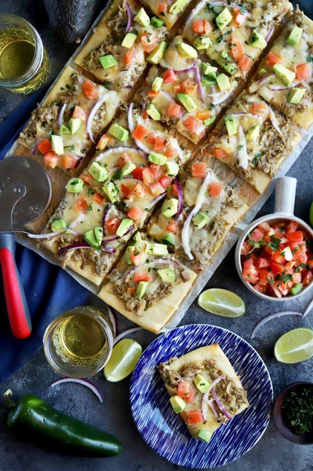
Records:
M11 156L0 161L0 265L12 333L25 339L31 333L29 309L14 259L14 232L47 208L51 183L45 170L28 157Z

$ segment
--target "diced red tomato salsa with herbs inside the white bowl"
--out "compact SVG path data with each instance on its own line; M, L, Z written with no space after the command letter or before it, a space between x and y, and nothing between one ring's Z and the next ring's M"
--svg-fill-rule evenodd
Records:
M260 223L241 247L243 278L268 296L299 293L313 278L312 242L295 221Z

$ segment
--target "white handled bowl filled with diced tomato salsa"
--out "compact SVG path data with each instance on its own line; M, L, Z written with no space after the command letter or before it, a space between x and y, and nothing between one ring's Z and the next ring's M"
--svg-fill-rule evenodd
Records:
M272 301L301 296L313 286L313 229L293 214L296 183L277 179L275 212L255 219L236 246L241 281Z

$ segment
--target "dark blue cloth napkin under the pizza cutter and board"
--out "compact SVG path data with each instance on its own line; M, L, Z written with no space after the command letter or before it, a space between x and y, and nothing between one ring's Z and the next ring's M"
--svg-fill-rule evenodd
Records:
M28 97L0 126L0 159L11 148L46 89L47 86ZM0 382L19 370L42 346L44 331L51 320L84 304L89 294L62 268L51 265L19 244L16 246L16 263L32 318L32 333L24 340L16 339L11 333L0 270Z

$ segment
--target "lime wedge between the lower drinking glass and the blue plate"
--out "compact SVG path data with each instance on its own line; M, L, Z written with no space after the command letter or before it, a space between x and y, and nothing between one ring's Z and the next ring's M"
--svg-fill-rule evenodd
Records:
M108 381L124 380L135 368L142 353L141 345L132 339L123 339L112 350L103 372Z

